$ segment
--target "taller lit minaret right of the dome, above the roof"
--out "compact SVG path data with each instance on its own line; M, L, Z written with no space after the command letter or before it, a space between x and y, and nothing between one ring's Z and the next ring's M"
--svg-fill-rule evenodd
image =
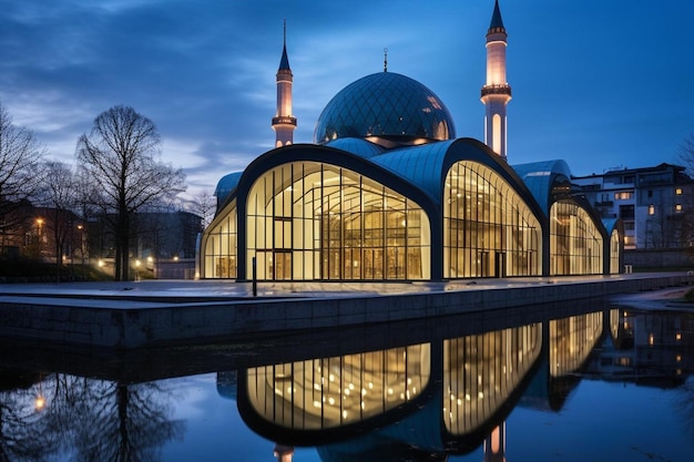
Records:
M482 103L486 106L484 143L506 158L506 106L511 101L511 86L506 81L506 45L508 38L499 0L487 31L487 83L482 86Z

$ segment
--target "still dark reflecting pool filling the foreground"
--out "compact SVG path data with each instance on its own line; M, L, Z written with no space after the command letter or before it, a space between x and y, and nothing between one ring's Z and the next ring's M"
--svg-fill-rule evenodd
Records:
M691 461L694 310L582 304L135 351L4 342L0 461Z

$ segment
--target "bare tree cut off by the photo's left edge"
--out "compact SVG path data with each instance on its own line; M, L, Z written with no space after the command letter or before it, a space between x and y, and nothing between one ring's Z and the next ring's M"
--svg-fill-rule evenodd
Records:
M33 132L14 125L0 102L0 245L8 244L8 237L25 218L18 211L37 192L43 155Z

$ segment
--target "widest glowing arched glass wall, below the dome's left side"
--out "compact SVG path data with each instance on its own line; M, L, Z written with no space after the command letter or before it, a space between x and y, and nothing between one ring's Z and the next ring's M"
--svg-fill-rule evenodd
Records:
M356 172L284 164L255 182L247 207L248 271L255 257L258 279L430 278L427 215Z

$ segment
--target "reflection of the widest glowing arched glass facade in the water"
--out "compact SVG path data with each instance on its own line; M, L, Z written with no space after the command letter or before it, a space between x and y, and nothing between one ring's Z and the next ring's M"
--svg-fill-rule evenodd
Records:
M266 421L294 430L361 422L422 392L430 350L422 343L248 369L248 400Z

